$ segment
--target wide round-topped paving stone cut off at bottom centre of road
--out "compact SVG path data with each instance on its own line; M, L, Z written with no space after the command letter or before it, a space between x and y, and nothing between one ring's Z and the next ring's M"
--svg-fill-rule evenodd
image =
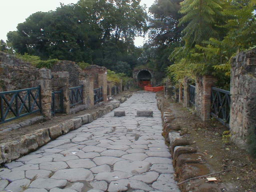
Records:
M118 192L118 191L126 191L129 188L132 189L141 189L144 191L150 191L152 188L147 184L137 181L137 180L130 180L130 179L120 179L117 181L112 181L109 184L108 191L109 192Z

